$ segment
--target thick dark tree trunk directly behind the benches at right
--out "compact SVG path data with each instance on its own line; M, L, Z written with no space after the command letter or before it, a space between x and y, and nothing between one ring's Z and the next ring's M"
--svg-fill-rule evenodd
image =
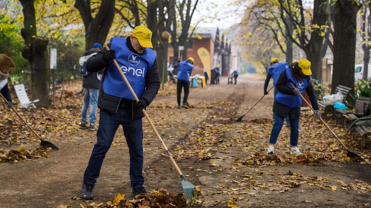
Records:
M335 4L332 94L338 85L352 88L350 93L354 94L356 20L359 7L353 0L338 0Z

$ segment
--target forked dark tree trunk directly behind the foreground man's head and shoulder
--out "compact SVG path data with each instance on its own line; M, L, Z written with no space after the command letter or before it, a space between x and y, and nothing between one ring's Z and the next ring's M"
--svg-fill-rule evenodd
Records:
M79 10L85 26L85 50L92 48L94 43L103 46L115 16L115 0L102 0L94 18L90 0L76 0L74 6Z

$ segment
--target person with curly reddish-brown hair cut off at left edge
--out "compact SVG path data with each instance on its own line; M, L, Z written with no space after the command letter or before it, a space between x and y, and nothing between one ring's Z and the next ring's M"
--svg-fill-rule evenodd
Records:
M16 68L12 58L5 54L0 54L0 92L4 96L5 100L8 101L6 104L7 108L13 106L12 98L10 97L10 91L8 87L8 78L10 70ZM3 100L3 99L0 99Z

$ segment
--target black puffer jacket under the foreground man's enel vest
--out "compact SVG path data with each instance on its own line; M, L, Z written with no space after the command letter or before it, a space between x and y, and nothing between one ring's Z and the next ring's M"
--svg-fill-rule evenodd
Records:
M134 50L134 48L131 45L130 37L128 37L126 40L128 48L136 54L139 54L137 51ZM111 47L111 43L107 44L108 47ZM86 70L90 72L97 72L99 70L102 70L102 68L106 68L104 71L104 76L102 77L102 80L104 82L105 74L108 72L108 62L106 62L103 59L104 53L106 52L106 49L103 48L103 50L99 51L98 54L95 54L91 58L86 61ZM160 89L160 78L158 76L158 69L157 69L157 59L153 63L152 67L147 71L147 74L145 76L145 90L142 96L139 98L143 98L147 102L147 106L153 101L153 99L156 97L158 90ZM126 98L116 97L113 95L108 95L104 93L103 87L101 87L101 90L99 91L99 97L98 97L98 108L106 111L109 114L115 115L117 108L131 108L132 109L132 119L138 119L144 117L144 114L141 110L138 109L137 105L135 105L135 101L129 100Z

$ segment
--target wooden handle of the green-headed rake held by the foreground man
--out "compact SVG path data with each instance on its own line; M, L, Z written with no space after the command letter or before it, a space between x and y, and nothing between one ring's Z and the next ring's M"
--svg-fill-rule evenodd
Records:
M104 44L104 47L106 48L106 50L109 50L109 47L107 46L107 44ZM128 85L128 87L129 87L129 90L131 91L131 94L132 94L132 95L134 96L135 100L136 100L136 101L138 102L138 101L139 101L139 99L138 99L137 95L135 94L135 92L134 92L133 88L131 87L131 85L130 85L129 81L128 81L128 80L127 80L127 78L125 77L125 74L124 74L124 73L122 73L122 71L121 71L121 68L120 68L120 66L118 65L118 63L117 63L116 59L114 59L114 60L112 60L112 61L114 61L114 63L115 63L115 65L116 65L116 68L117 68L117 70L118 70L118 71L120 72L120 74L121 74L122 78L124 78L124 80L125 80L125 83L126 83L126 84ZM162 147L164 147L164 149L165 149L166 153L167 153L167 154L169 155L169 157L170 157L170 160L171 160L171 162L173 162L173 165L174 165L174 166L175 166L175 168L177 169L177 171L178 171L179 175L183 175L182 171L180 171L180 169L179 169L179 167L178 167L177 163L175 162L175 160L174 160L173 156L171 156L171 154L170 154L170 151L169 151L169 150L167 149L167 147L166 147L166 145L165 145L164 141L162 140L162 138L161 138L160 134L158 134L158 132L157 132L157 130L156 130L156 128L155 128L155 126L153 125L153 123L152 123L152 121L151 121L151 118L150 118L150 117L148 116L147 112L145 112L145 110L144 110L144 109L142 109L142 112L144 113L145 117L147 118L148 122L150 123L150 125L151 125L151 127L152 127L153 131L155 132L155 134L156 134L156 136L157 136L158 140L160 140L160 142L161 142L161 144L162 144Z

